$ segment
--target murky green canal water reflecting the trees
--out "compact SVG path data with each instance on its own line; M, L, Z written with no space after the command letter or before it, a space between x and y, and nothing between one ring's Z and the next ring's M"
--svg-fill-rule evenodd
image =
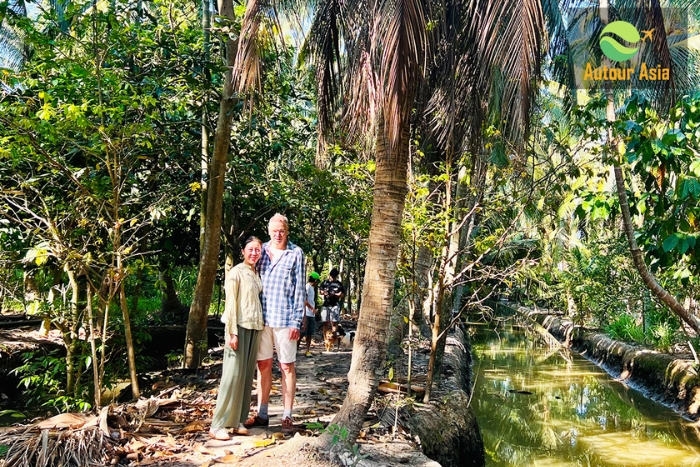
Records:
M519 328L470 333L486 465L700 467L700 425L585 358Z

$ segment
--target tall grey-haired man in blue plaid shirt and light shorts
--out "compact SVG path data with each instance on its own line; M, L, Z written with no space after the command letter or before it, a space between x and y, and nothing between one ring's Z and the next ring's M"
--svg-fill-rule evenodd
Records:
M246 428L267 426L270 422L268 403L272 389L272 356L277 351L282 373L282 431L293 432L292 407L296 392L296 370L299 328L304 318L306 301L305 260L301 248L288 241L289 222L275 214L268 224L270 241L263 244L259 261L262 279L262 308L265 328L258 350L258 413L243 424Z

